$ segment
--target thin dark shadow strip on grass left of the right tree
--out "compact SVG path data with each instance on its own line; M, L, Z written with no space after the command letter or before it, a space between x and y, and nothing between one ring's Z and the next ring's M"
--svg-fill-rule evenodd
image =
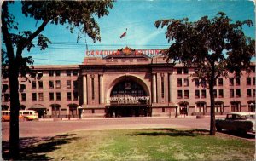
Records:
M178 129L143 129L147 132L137 132L132 135L148 135L148 136L197 136L197 135L208 135L209 131L206 129L189 129L189 130L178 130ZM152 130L152 132L150 131Z

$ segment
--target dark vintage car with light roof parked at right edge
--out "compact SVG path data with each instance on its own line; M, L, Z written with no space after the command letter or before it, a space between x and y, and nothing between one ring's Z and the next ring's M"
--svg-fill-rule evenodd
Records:
M247 132L255 133L255 113L254 112L230 112L225 119L216 119L217 131L226 129L237 131L240 134Z

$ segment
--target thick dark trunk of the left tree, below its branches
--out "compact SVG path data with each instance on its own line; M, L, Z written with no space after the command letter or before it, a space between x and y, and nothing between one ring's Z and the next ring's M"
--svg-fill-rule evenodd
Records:
M9 66L10 122L9 122L9 157L19 158L19 68Z

